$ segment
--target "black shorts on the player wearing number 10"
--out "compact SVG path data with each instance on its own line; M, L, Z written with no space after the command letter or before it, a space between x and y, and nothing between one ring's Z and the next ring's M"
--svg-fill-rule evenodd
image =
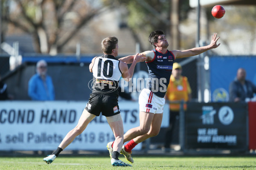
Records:
M99 116L101 112L106 117L120 113L117 97L105 94L90 94L90 99L85 109L96 116Z

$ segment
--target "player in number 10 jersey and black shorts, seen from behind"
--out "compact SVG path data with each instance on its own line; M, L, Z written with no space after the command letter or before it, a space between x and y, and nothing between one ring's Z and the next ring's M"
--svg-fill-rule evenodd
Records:
M89 66L90 72L93 73L93 91L79 122L73 130L67 133L58 148L43 159L47 164L52 163L59 153L85 130L95 116L102 113L103 116L106 116L115 136L111 164L113 166L131 166L118 159L124 139L122 117L118 106L118 86L120 77L122 76L126 81L129 81L133 76L136 63L145 61L145 59L142 59L141 55L138 54L124 57L124 59L132 58L130 68L125 62L116 59L118 55L116 37L107 37L102 40L102 51L104 55L94 57Z

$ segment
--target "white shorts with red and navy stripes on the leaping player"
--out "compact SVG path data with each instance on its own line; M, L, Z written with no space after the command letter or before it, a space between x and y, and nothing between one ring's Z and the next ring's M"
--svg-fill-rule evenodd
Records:
M163 106L165 104L165 99L162 97L158 97L153 94L147 88L144 88L140 92L139 96L139 105L140 111L148 112L148 113L163 113Z

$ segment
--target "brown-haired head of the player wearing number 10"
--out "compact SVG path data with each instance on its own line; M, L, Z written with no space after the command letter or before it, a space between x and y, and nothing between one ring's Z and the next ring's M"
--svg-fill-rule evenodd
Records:
M104 54L111 54L112 50L116 48L118 40L116 37L107 37L102 40L102 51Z

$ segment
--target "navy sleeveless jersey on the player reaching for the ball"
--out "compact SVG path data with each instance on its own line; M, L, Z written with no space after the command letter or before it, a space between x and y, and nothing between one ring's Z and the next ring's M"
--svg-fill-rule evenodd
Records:
M172 74L175 56L169 50L165 54L156 49L152 51L155 54L154 59L146 62L148 66L147 89L159 97L164 97Z

